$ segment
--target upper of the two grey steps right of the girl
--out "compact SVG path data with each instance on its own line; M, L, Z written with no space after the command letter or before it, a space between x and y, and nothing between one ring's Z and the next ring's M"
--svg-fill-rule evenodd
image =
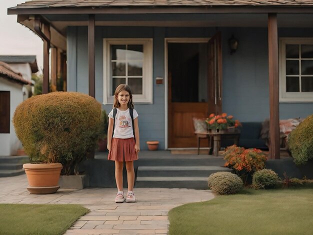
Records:
M197 176L208 177L216 171L231 171L220 166L138 166L137 177L143 176Z

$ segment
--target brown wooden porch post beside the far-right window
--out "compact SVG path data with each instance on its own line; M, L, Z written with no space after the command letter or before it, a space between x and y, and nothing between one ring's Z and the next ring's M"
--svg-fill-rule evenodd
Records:
M279 82L276 13L268 13L269 157L279 159Z

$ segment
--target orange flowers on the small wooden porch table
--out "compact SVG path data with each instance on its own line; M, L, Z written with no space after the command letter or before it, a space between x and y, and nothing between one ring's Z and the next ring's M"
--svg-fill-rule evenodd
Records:
M241 126L241 123L238 120L234 120L232 115L227 115L225 112L220 115L211 113L205 121L208 129L227 129L231 126Z

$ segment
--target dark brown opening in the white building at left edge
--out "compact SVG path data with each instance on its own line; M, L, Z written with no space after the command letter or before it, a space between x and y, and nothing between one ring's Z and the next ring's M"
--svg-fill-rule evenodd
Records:
M0 91L0 133L10 132L10 92Z

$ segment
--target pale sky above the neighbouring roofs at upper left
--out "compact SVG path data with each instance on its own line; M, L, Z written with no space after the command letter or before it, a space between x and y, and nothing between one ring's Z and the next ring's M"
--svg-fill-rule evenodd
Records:
M43 42L33 31L17 23L17 15L7 8L28 0L0 0L0 54L36 55L39 72L43 67Z

